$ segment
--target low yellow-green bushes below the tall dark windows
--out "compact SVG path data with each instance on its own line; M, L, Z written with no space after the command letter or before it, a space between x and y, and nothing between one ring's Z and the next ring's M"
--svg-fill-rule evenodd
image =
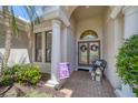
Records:
M4 71L3 75L0 78L0 85L10 85L13 82L36 84L41 79L39 70L38 65L17 64Z

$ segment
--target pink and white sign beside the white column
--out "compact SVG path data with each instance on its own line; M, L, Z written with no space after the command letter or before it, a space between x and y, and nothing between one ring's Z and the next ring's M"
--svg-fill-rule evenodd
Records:
M69 78L69 75L70 75L70 69L69 68L70 66L69 66L68 62L59 63L59 78L60 79Z

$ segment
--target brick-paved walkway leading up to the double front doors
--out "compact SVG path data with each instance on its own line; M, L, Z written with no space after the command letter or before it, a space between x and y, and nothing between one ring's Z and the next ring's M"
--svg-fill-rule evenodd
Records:
M88 71L72 72L59 91L45 85L49 79L50 75L43 74L40 91L51 93L56 97L116 97L114 89L107 79L103 79L102 83L92 81Z

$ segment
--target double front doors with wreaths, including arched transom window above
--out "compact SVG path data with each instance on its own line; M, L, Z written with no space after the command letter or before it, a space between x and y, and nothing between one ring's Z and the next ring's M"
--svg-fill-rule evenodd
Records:
M96 59L100 59L98 34L93 30L86 30L78 41L78 66L90 66Z

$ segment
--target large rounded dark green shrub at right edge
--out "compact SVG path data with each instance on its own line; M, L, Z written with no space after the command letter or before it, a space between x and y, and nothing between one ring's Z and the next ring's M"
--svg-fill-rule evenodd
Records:
M117 73L125 83L138 85L138 34L125 41L119 49L116 65ZM138 96L138 89L134 89L134 92Z

